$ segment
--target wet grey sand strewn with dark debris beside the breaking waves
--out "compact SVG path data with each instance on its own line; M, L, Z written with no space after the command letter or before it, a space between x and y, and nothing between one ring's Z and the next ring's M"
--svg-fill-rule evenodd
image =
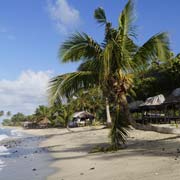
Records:
M2 180L42 180L54 173L54 169L49 168L52 156L47 148L39 147L45 137L28 134L21 128L6 129L15 129L23 136L10 137L0 142L0 145L7 148L7 154L0 156L4 162L4 167L0 171Z

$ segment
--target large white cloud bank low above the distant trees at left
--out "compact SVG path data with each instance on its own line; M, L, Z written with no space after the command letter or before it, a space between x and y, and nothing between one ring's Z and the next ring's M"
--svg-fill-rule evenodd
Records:
M47 104L50 71L24 71L12 80L0 80L0 110L31 114L41 104Z

